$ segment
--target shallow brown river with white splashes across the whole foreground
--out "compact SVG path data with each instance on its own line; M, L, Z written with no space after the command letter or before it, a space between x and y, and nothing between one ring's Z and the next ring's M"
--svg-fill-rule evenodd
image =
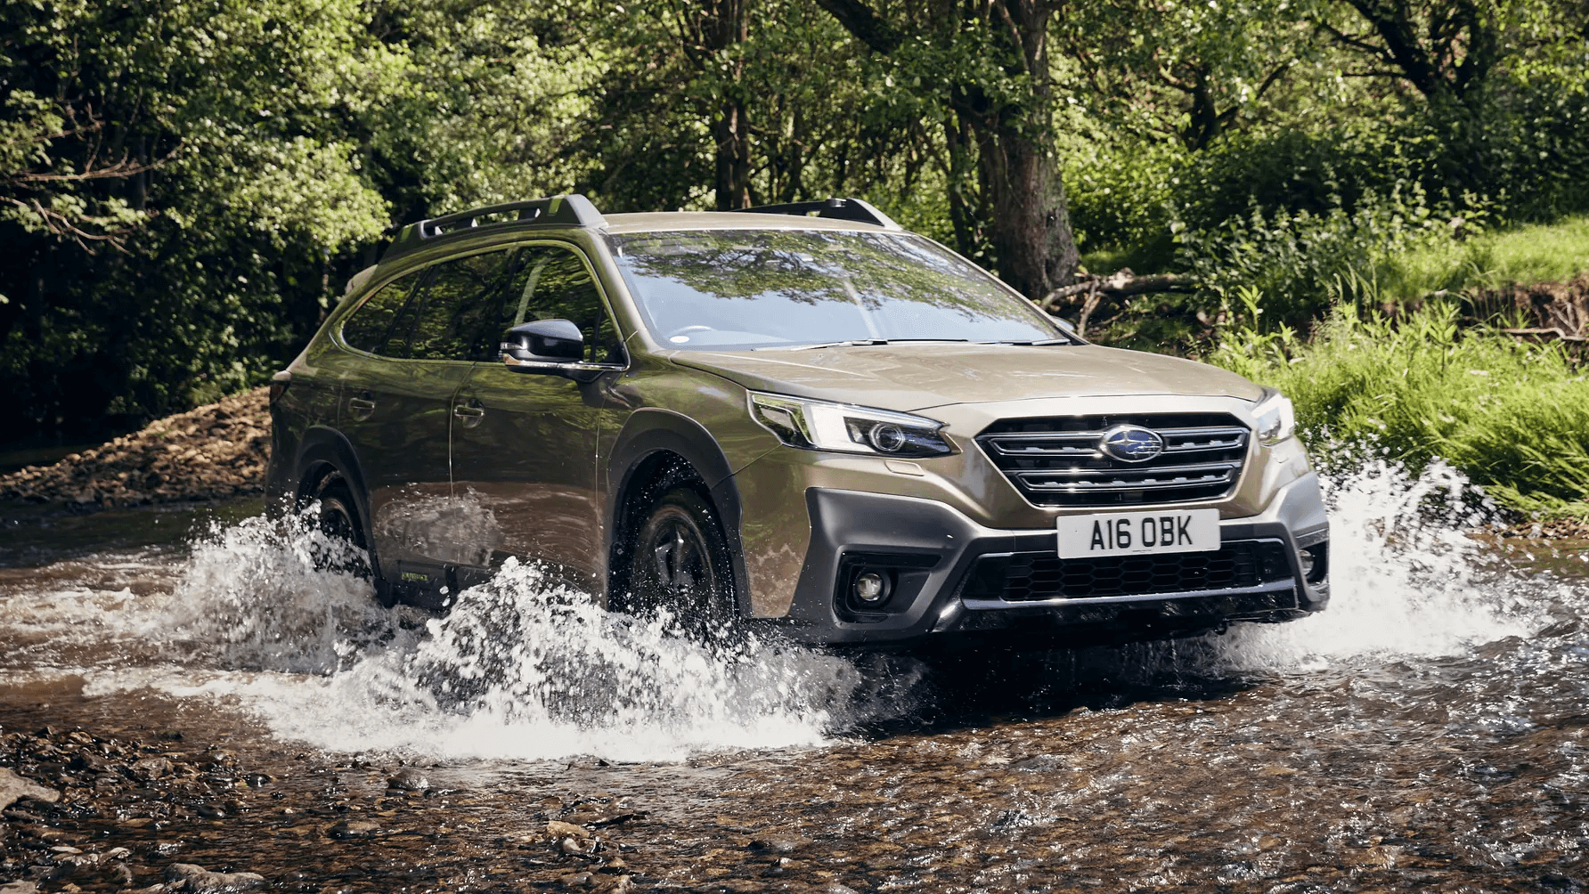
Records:
M178 861L297 891L1589 888L1584 545L1484 535L1438 467L1328 500L1319 616L931 661L706 649L529 565L445 618L388 611L248 507L13 518L0 765L79 805L38 845L127 846L138 884ZM57 776L14 735L44 724L224 746L253 783ZM113 888L30 870L38 845L0 881Z

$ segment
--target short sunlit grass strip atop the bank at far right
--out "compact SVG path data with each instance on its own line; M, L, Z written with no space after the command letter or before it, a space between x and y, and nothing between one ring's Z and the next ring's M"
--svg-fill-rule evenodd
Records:
M1440 291L1565 283L1583 272L1589 272L1589 216L1427 243L1384 259L1374 278L1381 299L1408 302Z

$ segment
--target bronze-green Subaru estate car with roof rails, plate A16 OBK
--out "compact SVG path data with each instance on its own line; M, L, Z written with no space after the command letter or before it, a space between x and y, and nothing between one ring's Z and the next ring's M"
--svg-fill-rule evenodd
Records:
M510 557L688 630L931 648L1303 618L1290 402L1090 345L858 198L419 221L272 383L267 491L434 610Z

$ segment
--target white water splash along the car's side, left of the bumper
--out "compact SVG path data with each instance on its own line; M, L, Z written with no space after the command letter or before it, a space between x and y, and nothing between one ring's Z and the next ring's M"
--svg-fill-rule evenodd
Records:
M310 516L200 538L168 599L129 621L183 669L100 673L235 703L291 740L338 751L671 761L815 745L845 724L855 669L745 634L706 646L674 619L601 610L537 564L508 561L445 618L381 608Z

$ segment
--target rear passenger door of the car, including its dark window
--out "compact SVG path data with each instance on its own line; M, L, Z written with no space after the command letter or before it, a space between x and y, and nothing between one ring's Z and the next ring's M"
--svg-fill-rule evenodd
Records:
M453 583L450 567L489 541L453 495L448 440L453 395L474 367L469 333L478 326L470 314L501 289L505 259L496 251L429 267L391 322L378 375L343 387L353 416L345 434L361 464L375 465L365 476L375 480L369 492L377 561L399 599L440 602Z

